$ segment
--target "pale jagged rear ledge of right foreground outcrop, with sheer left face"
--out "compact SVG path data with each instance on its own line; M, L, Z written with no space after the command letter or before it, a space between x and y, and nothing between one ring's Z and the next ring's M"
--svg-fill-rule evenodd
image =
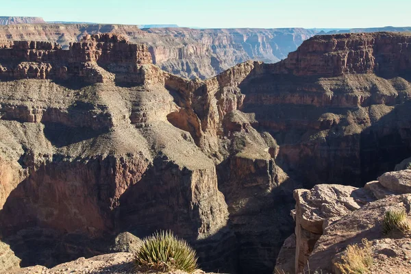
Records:
M310 256L314 254L313 250L316 248L317 241L325 235L329 225L338 223L343 216L350 215L351 212L357 212L372 201L402 194L403 192L385 188L380 180L388 177L391 179L403 178L401 173L403 171L384 173L378 178L379 181L369 182L365 184L364 188L317 185L311 190L295 190L296 210L293 210L292 214L296 222L297 249L295 264L297 273L307 267L308 258L311 258ZM403 199L403 204L407 210L409 207L408 199L409 197ZM345 231L341 233L345 233ZM338 256L333 260L338 260Z

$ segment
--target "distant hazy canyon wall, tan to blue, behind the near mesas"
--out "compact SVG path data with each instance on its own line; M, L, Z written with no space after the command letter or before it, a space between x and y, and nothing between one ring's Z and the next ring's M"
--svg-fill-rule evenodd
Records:
M133 25L45 24L0 26L0 41L58 42L63 49L87 34L112 32L149 47L153 63L188 78L213 77L247 60L278 62L314 36L308 29L139 29Z

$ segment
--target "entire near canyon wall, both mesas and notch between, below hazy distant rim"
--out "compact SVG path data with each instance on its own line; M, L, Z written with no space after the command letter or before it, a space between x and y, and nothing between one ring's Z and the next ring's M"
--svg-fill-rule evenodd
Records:
M119 232L173 229L203 269L272 273L292 190L360 185L410 154L410 40L318 36L205 81L120 36L5 44L2 240L51 266L107 252Z

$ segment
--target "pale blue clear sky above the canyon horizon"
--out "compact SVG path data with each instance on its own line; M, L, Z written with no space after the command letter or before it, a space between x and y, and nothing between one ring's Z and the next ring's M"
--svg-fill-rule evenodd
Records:
M182 27L406 27L411 0L0 0L0 16Z

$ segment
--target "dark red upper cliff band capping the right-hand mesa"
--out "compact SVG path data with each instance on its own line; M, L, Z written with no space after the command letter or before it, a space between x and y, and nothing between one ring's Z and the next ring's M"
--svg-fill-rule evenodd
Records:
M282 64L299 76L400 73L411 69L411 35L381 32L315 36Z

